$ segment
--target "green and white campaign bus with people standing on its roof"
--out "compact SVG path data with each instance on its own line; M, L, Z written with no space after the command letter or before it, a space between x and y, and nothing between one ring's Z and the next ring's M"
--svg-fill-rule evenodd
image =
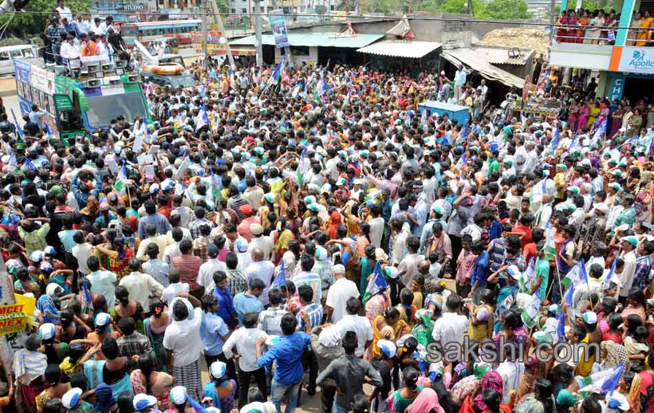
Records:
M108 129L118 116L151 123L143 86L138 74L127 71L127 61L88 56L68 70L46 66L43 59L16 59L14 74L21 113L30 113L32 105L44 110L50 132L65 144Z

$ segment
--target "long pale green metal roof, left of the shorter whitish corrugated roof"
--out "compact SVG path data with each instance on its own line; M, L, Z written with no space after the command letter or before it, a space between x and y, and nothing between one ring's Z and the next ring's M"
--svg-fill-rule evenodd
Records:
M350 47L359 49L367 46L373 41L381 39L383 34L360 33L356 36L339 36L340 33L288 33L288 43L291 46L320 46L320 47ZM246 36L242 39L229 41L229 45L255 45L255 36ZM272 34L264 34L261 39L262 45L275 45L275 38Z

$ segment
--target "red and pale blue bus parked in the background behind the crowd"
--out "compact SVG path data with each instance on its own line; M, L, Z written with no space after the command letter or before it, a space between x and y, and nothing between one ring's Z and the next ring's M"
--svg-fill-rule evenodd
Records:
M202 30L201 20L144 21L142 23L125 23L120 28L127 45L134 45L134 40L147 46L151 41L161 38L176 39L178 45L191 44L191 32Z

